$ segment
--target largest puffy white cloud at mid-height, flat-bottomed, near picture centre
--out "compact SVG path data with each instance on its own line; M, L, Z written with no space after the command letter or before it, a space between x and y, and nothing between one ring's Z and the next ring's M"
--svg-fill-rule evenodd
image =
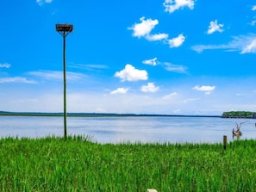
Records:
M122 71L117 71L115 77L120 77L122 81L147 80L147 71L135 69L133 65L127 64Z

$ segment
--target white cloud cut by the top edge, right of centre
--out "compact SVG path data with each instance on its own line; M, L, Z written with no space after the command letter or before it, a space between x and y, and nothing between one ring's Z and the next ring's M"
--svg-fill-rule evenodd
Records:
M193 0L165 0L163 3L165 6L165 12L173 13L177 9L182 9L188 7L189 9L194 9Z

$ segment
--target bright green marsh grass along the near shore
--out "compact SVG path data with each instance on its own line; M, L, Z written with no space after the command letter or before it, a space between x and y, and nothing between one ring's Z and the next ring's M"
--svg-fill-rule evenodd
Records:
M256 141L97 144L0 139L0 191L255 191Z

